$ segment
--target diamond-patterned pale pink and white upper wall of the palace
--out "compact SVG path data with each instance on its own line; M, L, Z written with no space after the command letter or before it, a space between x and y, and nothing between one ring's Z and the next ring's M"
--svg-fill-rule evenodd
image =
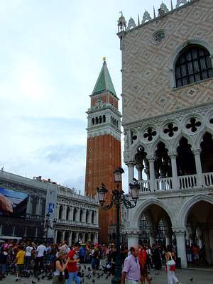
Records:
M177 111L180 106L187 109L213 101L212 79L197 82L193 88L191 85L172 86L173 62L181 47L190 40L213 47L213 29L209 21L212 15L212 0L194 0L163 18L124 33L121 39L124 125ZM158 31L165 32L165 39L155 45L153 35Z

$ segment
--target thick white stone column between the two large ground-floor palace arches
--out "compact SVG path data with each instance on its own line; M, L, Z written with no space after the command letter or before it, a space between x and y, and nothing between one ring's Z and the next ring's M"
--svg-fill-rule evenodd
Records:
M187 268L187 256L185 249L185 229L173 229L177 241L178 257L181 259L181 268Z

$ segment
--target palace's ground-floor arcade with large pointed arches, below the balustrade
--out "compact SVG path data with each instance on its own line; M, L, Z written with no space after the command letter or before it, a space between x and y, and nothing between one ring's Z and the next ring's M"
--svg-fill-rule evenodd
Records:
M182 268L187 268L187 253L193 245L202 251L205 264L213 264L211 193L185 192L182 196L173 193L166 199L159 195L143 197L129 215L129 227L126 228L129 247L141 241L151 245L173 245L181 258Z

